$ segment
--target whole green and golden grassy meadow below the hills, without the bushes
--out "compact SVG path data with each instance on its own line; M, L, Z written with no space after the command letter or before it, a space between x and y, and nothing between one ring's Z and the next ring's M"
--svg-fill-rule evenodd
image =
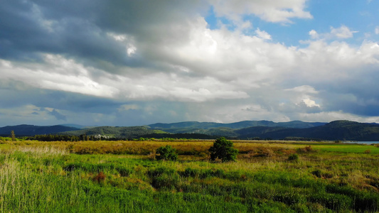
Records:
M0 212L379 212L377 146L213 142L0 141Z

